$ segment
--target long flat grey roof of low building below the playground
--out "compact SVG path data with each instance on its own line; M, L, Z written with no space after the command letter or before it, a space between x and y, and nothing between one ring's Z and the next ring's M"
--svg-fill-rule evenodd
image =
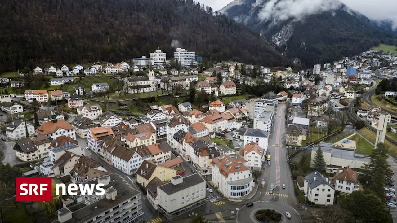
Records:
M370 162L370 158L368 156L365 156L364 154L356 154L352 149L333 147L330 142L320 142L320 147L322 152L331 153L331 157ZM312 150L318 150L318 146L313 146Z

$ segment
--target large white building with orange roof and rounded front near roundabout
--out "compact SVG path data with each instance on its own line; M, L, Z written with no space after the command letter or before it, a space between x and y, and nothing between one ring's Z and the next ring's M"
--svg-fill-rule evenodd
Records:
M246 162L226 154L212 159L212 182L225 198L241 198L252 191L254 178Z

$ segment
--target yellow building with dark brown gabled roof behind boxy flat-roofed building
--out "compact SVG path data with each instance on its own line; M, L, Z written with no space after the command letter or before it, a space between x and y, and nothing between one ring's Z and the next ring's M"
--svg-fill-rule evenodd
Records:
M175 169L156 165L152 161L144 160L137 171L137 183L146 187L154 177L157 177L161 181L171 181L171 178L175 176Z

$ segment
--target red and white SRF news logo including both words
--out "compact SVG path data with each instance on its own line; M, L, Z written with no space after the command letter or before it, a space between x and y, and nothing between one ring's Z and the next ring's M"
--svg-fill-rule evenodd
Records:
M52 178L51 177L17 177L15 178L15 201L52 201ZM98 184L74 184L65 185L63 183L55 184L55 195L104 195L103 183Z

